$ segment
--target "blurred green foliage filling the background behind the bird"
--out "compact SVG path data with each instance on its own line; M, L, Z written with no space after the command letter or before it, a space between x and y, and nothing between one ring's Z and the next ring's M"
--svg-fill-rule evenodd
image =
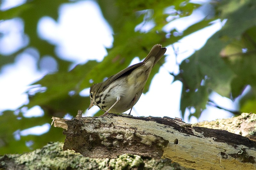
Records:
M114 32L113 48L107 49L108 56L102 62L91 60L69 70L72 63L60 59L54 51L55 46L38 36L37 24L44 16L52 17L57 22L60 5L76 2L33 0L0 11L0 20L22 18L24 35L29 37L28 46L12 54L0 54L0 67L14 63L18 54L24 53L31 47L38 50L39 60L44 55L52 56L59 66L57 72L47 74L34 83L39 85L36 87L37 93L28 90L29 103L22 106L29 109L39 105L44 110L43 117L26 118L20 110L16 110L15 114L6 110L0 116L0 154L21 153L39 148L49 141L63 141L61 130L57 128L51 128L41 136L21 136L20 140L15 140L14 134L33 126L51 123L52 116L63 117L66 113L75 116L77 110L85 110L89 106L89 97L79 96L79 92L91 86L91 79L94 82L101 82L105 77L127 67L134 57L139 56L143 59L155 44L171 45L211 25L216 19L221 21L227 19L227 21L220 31L208 39L203 48L180 64L178 75L170 73L174 75L175 81L183 83L180 110L184 116L186 108L188 110L195 108L196 111L190 113L190 116L199 117L212 91L234 99L241 95L247 85L250 85L249 93L240 99L240 111L256 112L256 1L212 0L207 5L211 6L213 15L194 23L177 35L175 29L166 33L162 28L177 18L190 16L202 5L189 3L188 0L99 0L97 3L102 14ZM164 12L167 7L172 9L171 13ZM167 22L167 17L173 19ZM151 21L155 26L148 32L143 32L140 28L134 31L137 25L143 26ZM4 33L0 35L4 37ZM164 58L159 63L164 63ZM148 91L149 84L160 66L161 64L157 64L152 70L144 92ZM35 91L35 89L31 90ZM101 111L97 114L102 113ZM27 147L25 144L28 141L33 141L33 145Z

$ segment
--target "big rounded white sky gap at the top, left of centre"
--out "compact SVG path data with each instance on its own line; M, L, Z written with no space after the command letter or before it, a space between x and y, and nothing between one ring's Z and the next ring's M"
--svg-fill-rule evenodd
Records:
M94 1L78 1L60 6L60 18L43 17L38 23L41 38L56 44L60 58L75 63L101 61L105 47L113 43L113 32Z

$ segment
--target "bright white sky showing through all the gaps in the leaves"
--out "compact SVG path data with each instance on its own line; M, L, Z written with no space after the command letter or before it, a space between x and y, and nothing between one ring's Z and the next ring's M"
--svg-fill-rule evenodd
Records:
M0 8L8 9L15 6L15 4L17 5L20 3L22 4L24 1L8 0L5 1ZM204 19L207 11L211 11L209 8L210 6L203 5L200 9L195 10L191 16L170 22L163 28L163 31L170 32L170 30L175 28L182 32L193 23ZM168 12L168 9L166 12ZM74 65L85 63L88 60L97 60L99 62L103 60L104 56L107 55L106 47L112 47L113 31L102 17L99 6L94 1L90 0L78 1L74 4L61 5L59 14L60 17L57 22L50 17L41 18L38 22L37 30L42 39L56 45L55 51L57 55L64 60L72 61ZM208 13L207 15L211 14ZM80 18L77 16L80 16ZM90 16L94 17L92 18ZM167 20L168 19L170 20L172 18L167 18ZM170 75L170 72L177 74L179 72L178 64L204 46L207 39L221 29L225 22L225 20L216 20L203 30L194 32L193 34L184 37L179 42L167 46L166 62L160 67L159 73L154 76L149 92L141 95L140 100L133 107L131 114L133 116L181 117L179 106L182 83L180 81L173 82L173 76ZM88 25L88 23L90 24ZM6 31L7 28L11 29L9 30L8 36L0 40L0 53L12 53L21 46L26 46L26 44L21 44L21 34L19 34L19 31L23 29L22 20L14 18L0 24L0 31ZM148 28L145 27L143 29L147 30ZM72 30L72 33L70 30ZM102 38L96 40L94 38L95 36L100 36ZM161 42L156 42L155 44L158 43ZM3 45L6 48L1 48ZM175 58L173 49L179 51L176 56L177 58ZM30 50L33 51L34 49ZM36 50L34 50L34 52L36 53ZM44 62L44 59L51 59L51 57L44 56L43 60L40 60L40 62ZM29 84L39 80L43 75L47 74L47 72L57 69L56 64L56 68L53 65L49 68L37 70L37 61L38 60L35 57L28 53L21 53L16 57L15 63L1 68L0 112L7 109L16 110L23 104L28 103L28 96L25 94L25 91L28 89ZM140 60L136 57L132 60L131 65L138 62L140 62ZM54 61L52 63L54 64ZM89 89L84 89L80 92L80 95L89 96ZM217 93L213 92L210 95L210 98L227 109L236 109L235 104L231 100L222 97ZM87 110L84 116L93 116L98 110L99 108L94 106L90 110ZM25 117L42 116L44 114L39 106L35 106L30 110L23 108L22 112ZM125 113L129 113L129 110ZM231 116L232 115L227 111L207 105L206 110L203 111L202 116L199 119L191 117L191 119L188 120L187 111L184 121L187 123L195 123L203 120L211 121L217 118ZM37 128L49 129L50 127L49 124L44 124ZM27 130L23 131L23 135L28 133Z

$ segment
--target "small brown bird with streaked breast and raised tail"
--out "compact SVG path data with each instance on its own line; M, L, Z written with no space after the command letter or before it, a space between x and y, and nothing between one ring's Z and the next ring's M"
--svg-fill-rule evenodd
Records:
M105 111L102 116L109 113L123 113L130 110L138 102L152 67L164 55L166 48L156 44L148 53L144 61L134 64L106 81L93 84L90 88L91 104L88 110L97 105Z

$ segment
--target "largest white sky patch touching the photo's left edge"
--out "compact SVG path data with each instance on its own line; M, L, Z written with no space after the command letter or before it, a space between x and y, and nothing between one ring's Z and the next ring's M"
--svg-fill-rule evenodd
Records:
M36 70L35 58L27 53L21 53L14 64L5 65L0 74L0 111L16 110L28 103L28 85L42 76Z

